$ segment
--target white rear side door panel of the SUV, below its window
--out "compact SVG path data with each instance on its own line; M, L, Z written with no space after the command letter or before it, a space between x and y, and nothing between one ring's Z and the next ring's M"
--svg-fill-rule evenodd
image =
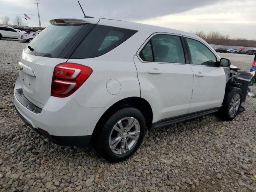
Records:
M138 70L141 97L149 102L153 122L183 115L190 109L193 72L189 64L141 62L134 56ZM149 74L148 70L161 74Z

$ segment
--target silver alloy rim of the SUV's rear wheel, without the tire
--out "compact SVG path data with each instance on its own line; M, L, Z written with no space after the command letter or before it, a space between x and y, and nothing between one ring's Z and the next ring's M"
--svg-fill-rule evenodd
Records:
M132 150L140 137L140 124L134 117L119 120L112 128L108 140L114 154L125 154Z

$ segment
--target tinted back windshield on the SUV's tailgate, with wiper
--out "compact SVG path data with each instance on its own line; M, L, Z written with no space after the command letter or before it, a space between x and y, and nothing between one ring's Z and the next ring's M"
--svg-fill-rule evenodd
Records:
M77 32L90 24L50 24L25 48L31 55L58 58Z

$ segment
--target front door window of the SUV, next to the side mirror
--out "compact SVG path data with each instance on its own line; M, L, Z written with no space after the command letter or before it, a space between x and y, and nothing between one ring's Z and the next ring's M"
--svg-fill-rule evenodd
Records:
M192 64L216 66L216 56L207 48L204 44L197 40L186 38L188 42L188 48L190 50Z

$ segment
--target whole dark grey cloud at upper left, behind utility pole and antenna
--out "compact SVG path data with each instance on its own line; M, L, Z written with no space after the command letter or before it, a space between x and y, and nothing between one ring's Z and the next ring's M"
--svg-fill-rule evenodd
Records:
M194 8L216 4L226 0L80 0L86 15L95 18L112 18L119 20L142 20L180 13ZM35 14L34 0L0 0L0 13ZM82 17L82 11L76 0L40 0L39 11L41 23L48 25L52 18ZM0 15L4 16L4 15ZM8 15L14 17L14 15ZM36 15L27 23L38 25Z

